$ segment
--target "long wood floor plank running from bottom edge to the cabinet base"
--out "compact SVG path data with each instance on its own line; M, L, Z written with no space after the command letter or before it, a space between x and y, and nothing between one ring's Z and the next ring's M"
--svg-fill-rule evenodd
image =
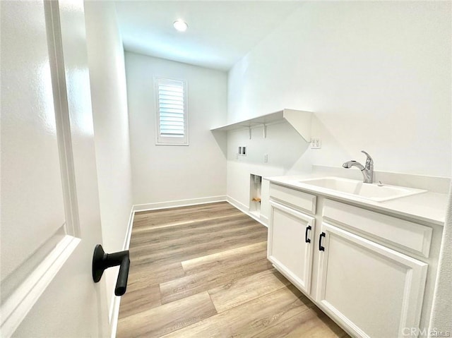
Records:
M295 286L283 287L164 337L253 337L307 310L305 302L310 303Z

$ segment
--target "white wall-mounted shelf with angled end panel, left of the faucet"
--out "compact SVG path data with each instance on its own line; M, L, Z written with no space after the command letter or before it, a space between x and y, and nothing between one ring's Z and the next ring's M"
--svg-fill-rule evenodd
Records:
M310 111L283 109L276 111L275 113L255 117L254 119L247 119L244 121L230 123L225 126L211 128L210 131L237 131L248 128L251 138L251 129L263 126L263 137L265 138L266 126L287 121L299 133L299 135L306 140L306 142L311 142L311 119L312 113Z

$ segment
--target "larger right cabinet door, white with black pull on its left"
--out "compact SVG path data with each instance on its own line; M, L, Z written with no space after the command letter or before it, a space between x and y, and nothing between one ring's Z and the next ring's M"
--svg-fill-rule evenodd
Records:
M323 310L357 337L415 337L427 264L330 224L322 231L317 301Z

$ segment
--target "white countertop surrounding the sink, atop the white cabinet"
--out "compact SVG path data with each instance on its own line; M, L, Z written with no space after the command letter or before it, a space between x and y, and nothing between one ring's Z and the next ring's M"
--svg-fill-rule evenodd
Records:
M446 193L432 193L427 191L425 193L396 198L394 200L374 202L373 200L345 195L330 189L319 188L299 182L303 179L311 179L314 177L319 176L278 176L265 177L264 179L299 191L315 193L317 195L335 198L335 200L343 200L345 203L349 202L355 205L362 205L364 207L370 207L371 209L391 212L393 214L444 226L446 205L448 202L448 195Z

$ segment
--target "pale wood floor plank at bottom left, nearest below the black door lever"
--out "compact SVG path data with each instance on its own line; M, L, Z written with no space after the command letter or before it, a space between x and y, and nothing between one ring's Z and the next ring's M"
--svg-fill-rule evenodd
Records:
M216 314L207 292L121 318L117 337L160 337Z

